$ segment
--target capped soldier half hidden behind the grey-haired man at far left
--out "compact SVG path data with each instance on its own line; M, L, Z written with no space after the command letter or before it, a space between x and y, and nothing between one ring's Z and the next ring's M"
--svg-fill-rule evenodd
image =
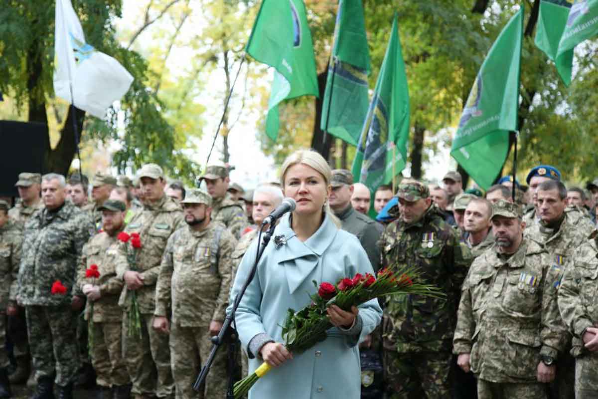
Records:
M21 230L20 236L23 235L23 229L26 221L39 209L44 209L44 203L39 196L41 175L39 173L19 173L19 181L16 182L17 190L19 190L20 202L17 203L10 211L8 217L13 222L14 226ZM27 341L27 323L25 320L25 309L17 306L16 312L8 315L8 337L13 342L14 357L17 362L17 368L13 374L10 374L11 383L24 383L29 377L29 342Z

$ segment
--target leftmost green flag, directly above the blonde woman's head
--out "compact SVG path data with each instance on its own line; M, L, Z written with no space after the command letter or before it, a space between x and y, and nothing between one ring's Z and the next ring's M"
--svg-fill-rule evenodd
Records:
M256 60L273 66L266 134L276 141L282 100L318 96L312 34L302 0L264 0L245 48Z

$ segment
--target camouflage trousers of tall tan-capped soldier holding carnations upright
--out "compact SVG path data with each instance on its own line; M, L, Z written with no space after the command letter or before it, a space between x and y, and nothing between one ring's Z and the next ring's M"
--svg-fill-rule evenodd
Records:
M141 337L129 337L129 313L123 312L123 356L137 395L171 397L175 383L170 370L168 335L152 328L154 316L141 315Z

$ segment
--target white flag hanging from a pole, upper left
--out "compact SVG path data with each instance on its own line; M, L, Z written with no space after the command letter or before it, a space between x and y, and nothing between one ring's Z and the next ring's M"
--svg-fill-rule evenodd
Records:
M85 42L71 0L56 0L54 92L98 118L129 90L133 76L117 60ZM71 90L74 101L71 99Z

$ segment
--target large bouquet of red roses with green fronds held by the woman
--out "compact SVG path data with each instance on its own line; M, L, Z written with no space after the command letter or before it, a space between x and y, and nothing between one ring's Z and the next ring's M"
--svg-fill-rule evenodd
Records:
M295 312L289 309L282 325L282 337L286 349L294 354L300 354L312 348L316 343L327 337L327 330L333 325L328 319L327 308L332 304L349 311L352 306L359 306L371 299L387 295L417 294L442 297L443 294L436 287L417 282L418 273L413 268L402 270L382 269L377 276L370 273L357 273L353 278L343 278L336 285L322 282L316 286L318 293L310 298L309 306ZM240 380L234 385L235 399L242 398L260 377L270 371L270 366L264 362L253 374Z

